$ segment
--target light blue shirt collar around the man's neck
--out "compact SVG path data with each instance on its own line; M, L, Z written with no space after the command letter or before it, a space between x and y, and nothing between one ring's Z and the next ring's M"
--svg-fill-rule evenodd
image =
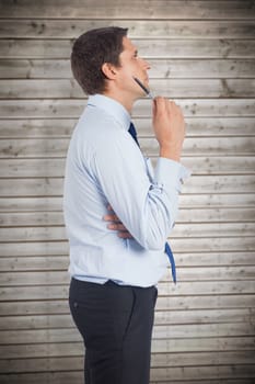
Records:
M125 129L129 129L130 115L118 101L104 94L93 94L89 97L88 105L100 108L120 123Z

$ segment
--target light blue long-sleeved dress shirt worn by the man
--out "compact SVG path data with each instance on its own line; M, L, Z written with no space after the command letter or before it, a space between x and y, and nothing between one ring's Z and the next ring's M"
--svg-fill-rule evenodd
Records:
M71 276L95 283L150 286L165 274L165 240L188 171L159 158L155 170L128 133L130 115L117 101L92 95L72 134L63 213ZM132 235L121 239L103 216L111 204Z

